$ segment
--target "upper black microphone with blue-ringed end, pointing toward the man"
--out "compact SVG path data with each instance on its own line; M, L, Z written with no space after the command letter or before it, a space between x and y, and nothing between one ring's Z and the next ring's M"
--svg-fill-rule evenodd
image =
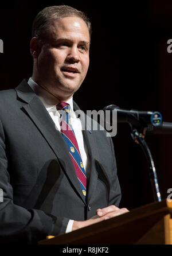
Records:
M138 111L138 110L125 110L119 108L116 105L108 105L103 108L104 112L106 110L117 111L117 122L118 123L130 123L135 124L138 121L141 125L148 126L162 126L162 114L158 111Z

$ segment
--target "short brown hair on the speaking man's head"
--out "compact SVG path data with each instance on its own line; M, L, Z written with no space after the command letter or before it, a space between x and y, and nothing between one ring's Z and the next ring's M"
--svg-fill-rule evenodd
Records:
M87 24L89 36L91 37L91 22L83 11L79 11L68 5L49 6L41 10L33 21L32 37L37 37L40 40L45 40L49 25L52 20L57 20L65 17L76 16L81 18Z

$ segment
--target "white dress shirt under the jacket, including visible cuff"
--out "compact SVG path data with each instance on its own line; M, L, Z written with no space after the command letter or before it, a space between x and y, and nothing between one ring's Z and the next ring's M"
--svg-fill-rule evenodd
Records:
M38 98L40 98L41 102L44 104L50 117L53 119L56 130L60 131L60 113L56 108L56 105L59 103L58 99L52 94L50 94L48 91L46 91L44 88L39 86L36 82L34 82L32 77L29 78L28 84L32 88L32 90L36 93ZM73 130L75 132L76 140L81 153L81 158L83 160L83 165L86 171L88 168L88 156L87 156L88 151L84 143L81 121L79 118L76 117L75 111L73 111L73 98L71 97L66 102L71 106L70 108L71 123L72 123ZM66 233L72 231L73 221L74 220L69 220Z

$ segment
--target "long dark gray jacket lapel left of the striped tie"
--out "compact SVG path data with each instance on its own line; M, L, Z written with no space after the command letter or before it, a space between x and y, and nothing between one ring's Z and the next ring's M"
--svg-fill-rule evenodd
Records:
M34 124L42 136L48 142L50 148L52 148L54 154L56 154L62 169L71 180L77 195L84 201L85 198L80 188L80 184L77 180L75 169L73 168L72 161L69 156L67 145L61 136L60 131L57 131L52 118L50 118L48 111L42 104L41 100L33 92L32 88L28 85L26 80L23 80L21 84L16 88L19 99L22 99L25 103L22 109L32 119Z

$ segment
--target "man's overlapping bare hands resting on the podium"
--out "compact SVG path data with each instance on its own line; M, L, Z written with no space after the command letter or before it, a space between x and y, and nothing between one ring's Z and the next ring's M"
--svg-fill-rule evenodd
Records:
M97 222L102 222L103 220L111 219L115 216L125 214L128 212L126 208L119 209L115 205L110 205L108 207L105 207L103 209L97 209L95 216L93 216L89 220L84 220L83 222L73 222L72 231L77 230L82 227L87 227L89 225L95 224Z

